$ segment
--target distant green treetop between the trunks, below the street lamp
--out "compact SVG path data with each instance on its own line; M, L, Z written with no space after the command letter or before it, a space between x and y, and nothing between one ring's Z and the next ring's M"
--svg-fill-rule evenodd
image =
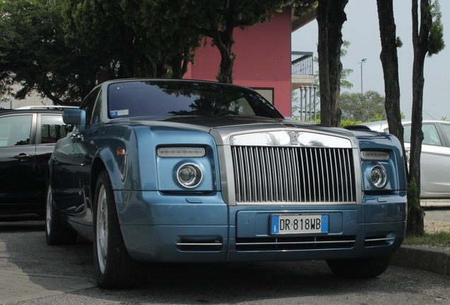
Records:
M384 97L378 92L361 93L344 92L340 95L342 120L350 121L381 121L386 119Z

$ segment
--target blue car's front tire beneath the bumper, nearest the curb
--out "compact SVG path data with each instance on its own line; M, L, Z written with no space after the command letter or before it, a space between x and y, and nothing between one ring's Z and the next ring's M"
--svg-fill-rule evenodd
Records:
M386 271L390 262L391 256L327 260L335 275L350 279L377 277Z

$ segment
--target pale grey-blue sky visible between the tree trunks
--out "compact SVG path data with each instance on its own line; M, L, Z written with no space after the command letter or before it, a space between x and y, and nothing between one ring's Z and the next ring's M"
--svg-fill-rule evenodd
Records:
M425 58L423 119L450 120L450 1L440 0L439 4L446 47L439 54ZM405 119L410 119L413 59L411 1L395 0L393 5L396 35L403 42L403 47L397 49L400 111L405 115ZM361 92L362 87L363 92L372 90L384 96L376 0L350 0L345 6L345 13L347 21L342 27L342 40L350 42L350 46L341 61L343 68L353 70L347 77L353 87L343 88L341 92ZM316 57L317 36L317 21L313 20L292 33L292 51L313 52ZM362 59L367 60L364 64L359 64ZM316 63L314 71L318 71Z

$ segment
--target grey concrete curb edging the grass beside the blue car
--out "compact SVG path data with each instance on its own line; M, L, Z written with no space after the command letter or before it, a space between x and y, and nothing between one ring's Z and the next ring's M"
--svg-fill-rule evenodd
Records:
M450 276L450 251L420 246L400 246L392 256L391 265Z

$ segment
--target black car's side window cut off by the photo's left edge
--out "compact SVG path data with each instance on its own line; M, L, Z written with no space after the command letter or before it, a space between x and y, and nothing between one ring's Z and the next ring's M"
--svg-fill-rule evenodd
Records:
M28 145L32 119L31 114L0 118L0 146Z

